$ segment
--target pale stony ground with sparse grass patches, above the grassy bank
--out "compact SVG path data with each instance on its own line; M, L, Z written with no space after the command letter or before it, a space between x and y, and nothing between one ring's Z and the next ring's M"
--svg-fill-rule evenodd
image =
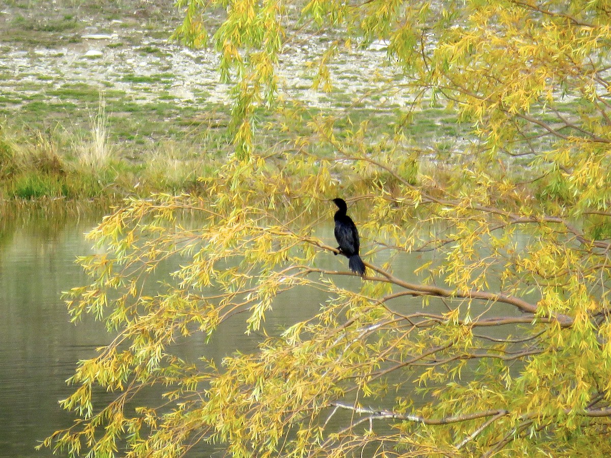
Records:
M152 117L141 119L135 112L153 112L164 122L184 123L210 112L222 118L230 98L229 86L219 82L218 56L170 42L180 21L181 12L159 0L5 3L0 10L0 114L23 118L27 125L86 123L87 109L101 96L117 120L119 137L128 139L120 118L132 118L139 122L132 131L140 128L142 135L155 137L155 129L146 126ZM313 107L378 106L381 96L370 91L392 77L380 43L344 53L332 64L332 94L310 89L304 64L330 41L324 35L304 36L285 48L279 68L283 89ZM395 93L382 101L392 108L405 98Z

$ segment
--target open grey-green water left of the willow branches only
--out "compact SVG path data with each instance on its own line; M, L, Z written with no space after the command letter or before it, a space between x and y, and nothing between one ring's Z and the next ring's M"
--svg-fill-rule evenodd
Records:
M70 392L65 380L79 358L107 340L100 323L70 324L59 297L86 280L74 260L89 252L82 232L92 221L72 220L67 226L45 218L13 219L3 226L0 456L45 456L35 453L37 441L71 423L57 404Z

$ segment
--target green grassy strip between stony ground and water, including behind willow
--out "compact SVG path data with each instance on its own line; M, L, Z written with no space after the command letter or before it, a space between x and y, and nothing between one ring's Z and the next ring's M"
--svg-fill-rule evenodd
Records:
M112 105L111 105L112 108ZM81 125L65 126L56 122L44 127L30 120L28 112L20 111L12 122L0 125L0 198L4 200L37 198L67 198L91 200L145 196L151 192L204 191L200 177L213 176L233 152L229 125L229 107L207 107L207 111L188 123L183 117L193 107L175 106L177 118L166 118L149 111L138 110L128 118L130 123L146 123L150 136L142 133L126 137L116 114L109 114L109 104L98 103L95 112L75 107L67 118L76 119L88 113ZM386 113L386 115L384 114ZM316 115L321 112L316 111ZM396 125L392 111L349 106L329 109L336 116L335 132L343 136L346 129L368 121L371 138L392 133ZM309 122L310 112L302 112L299 122ZM261 109L258 147L274 154L291 154L278 150L278 145L290 145L286 134L266 125L278 125L282 114ZM48 112L41 117L48 120ZM38 118L39 120L41 118ZM30 120L30 121L28 121ZM119 118L120 120L120 118ZM272 123L273 122L273 123ZM296 120L285 119L284 124ZM395 119L396 122L396 119ZM174 131L172 129L175 129ZM299 126L291 126L299 131ZM456 148L449 142L448 131L455 135L465 129L444 112L430 108L419 112L403 131L408 136L429 139L430 153L439 156ZM316 140L313 139L316 147ZM329 148L329 145L322 146ZM334 154L335 151L327 151Z

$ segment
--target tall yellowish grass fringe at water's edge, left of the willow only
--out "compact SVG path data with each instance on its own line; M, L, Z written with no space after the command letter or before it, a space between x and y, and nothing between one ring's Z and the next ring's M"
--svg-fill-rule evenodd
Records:
M108 126L92 118L87 134L56 128L0 130L0 198L94 199L197 191L199 176L214 173L218 155L189 142L162 141L130 159L129 145L110 142ZM204 156L204 157L202 157Z

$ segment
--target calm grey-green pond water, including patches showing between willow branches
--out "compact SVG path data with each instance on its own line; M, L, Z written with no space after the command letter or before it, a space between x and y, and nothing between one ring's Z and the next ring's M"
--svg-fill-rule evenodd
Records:
M78 325L70 324L60 299L61 291L87 282L75 258L90 253L91 243L83 233L98 219L99 216L76 219L46 215L0 220L0 458L51 456L48 449L36 453L34 446L73 421L73 416L57 404L73 391L65 380L73 374L78 360L92 357L96 347L111 340L103 325L90 317ZM321 229L324 233L319 236L332 244L332 225ZM424 261L417 255L403 256L393 261L393 267L402 278L412 281L414 268ZM318 267L346 268L341 256L321 256L317 262ZM350 289L357 289L360 281L355 277L337 279ZM267 332L310 318L328 299L318 289L286 291L274 302L273 313L266 316ZM422 310L420 301L401 299L392 307L402 313L412 307ZM441 302L431 302L428 308L433 313L446 310ZM503 311L508 315L516 313ZM208 344L205 336L194 335L178 343L173 351L191 362L205 355L219 364L225 355L235 350L250 352L262 340L260 335L245 335L244 330L244 320L232 320L222 324ZM507 329L494 332L504 333ZM163 391L159 388L142 393L138 401L154 402ZM112 394L98 393L97 399L103 402L108 396ZM214 449L218 451L218 446L211 447L201 445L189 456L210 456Z

